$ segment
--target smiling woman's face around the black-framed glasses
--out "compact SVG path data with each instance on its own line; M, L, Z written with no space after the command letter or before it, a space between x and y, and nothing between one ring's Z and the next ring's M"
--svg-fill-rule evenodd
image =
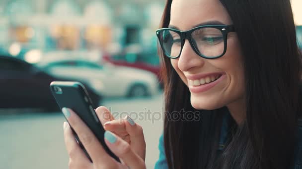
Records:
M219 0L172 1L169 27L186 31L210 21L232 24L227 10ZM224 56L204 59L194 52L186 40L180 57L171 59L171 64L189 87L191 104L195 109L213 110L240 102L243 98L243 62L235 32L228 33L227 52ZM209 82L211 78L213 82ZM208 83L200 84L204 82Z

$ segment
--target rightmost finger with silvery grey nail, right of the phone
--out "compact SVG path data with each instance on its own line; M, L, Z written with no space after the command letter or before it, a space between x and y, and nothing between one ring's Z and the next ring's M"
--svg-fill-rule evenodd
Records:
M125 117L126 131L130 135L131 148L135 151L143 160L146 157L146 142L143 133L143 128L135 123L130 116Z

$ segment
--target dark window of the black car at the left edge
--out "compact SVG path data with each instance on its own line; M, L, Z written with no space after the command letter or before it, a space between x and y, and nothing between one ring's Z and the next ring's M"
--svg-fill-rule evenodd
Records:
M31 65L27 63L22 63L12 59L0 59L0 70L29 72L31 68Z

